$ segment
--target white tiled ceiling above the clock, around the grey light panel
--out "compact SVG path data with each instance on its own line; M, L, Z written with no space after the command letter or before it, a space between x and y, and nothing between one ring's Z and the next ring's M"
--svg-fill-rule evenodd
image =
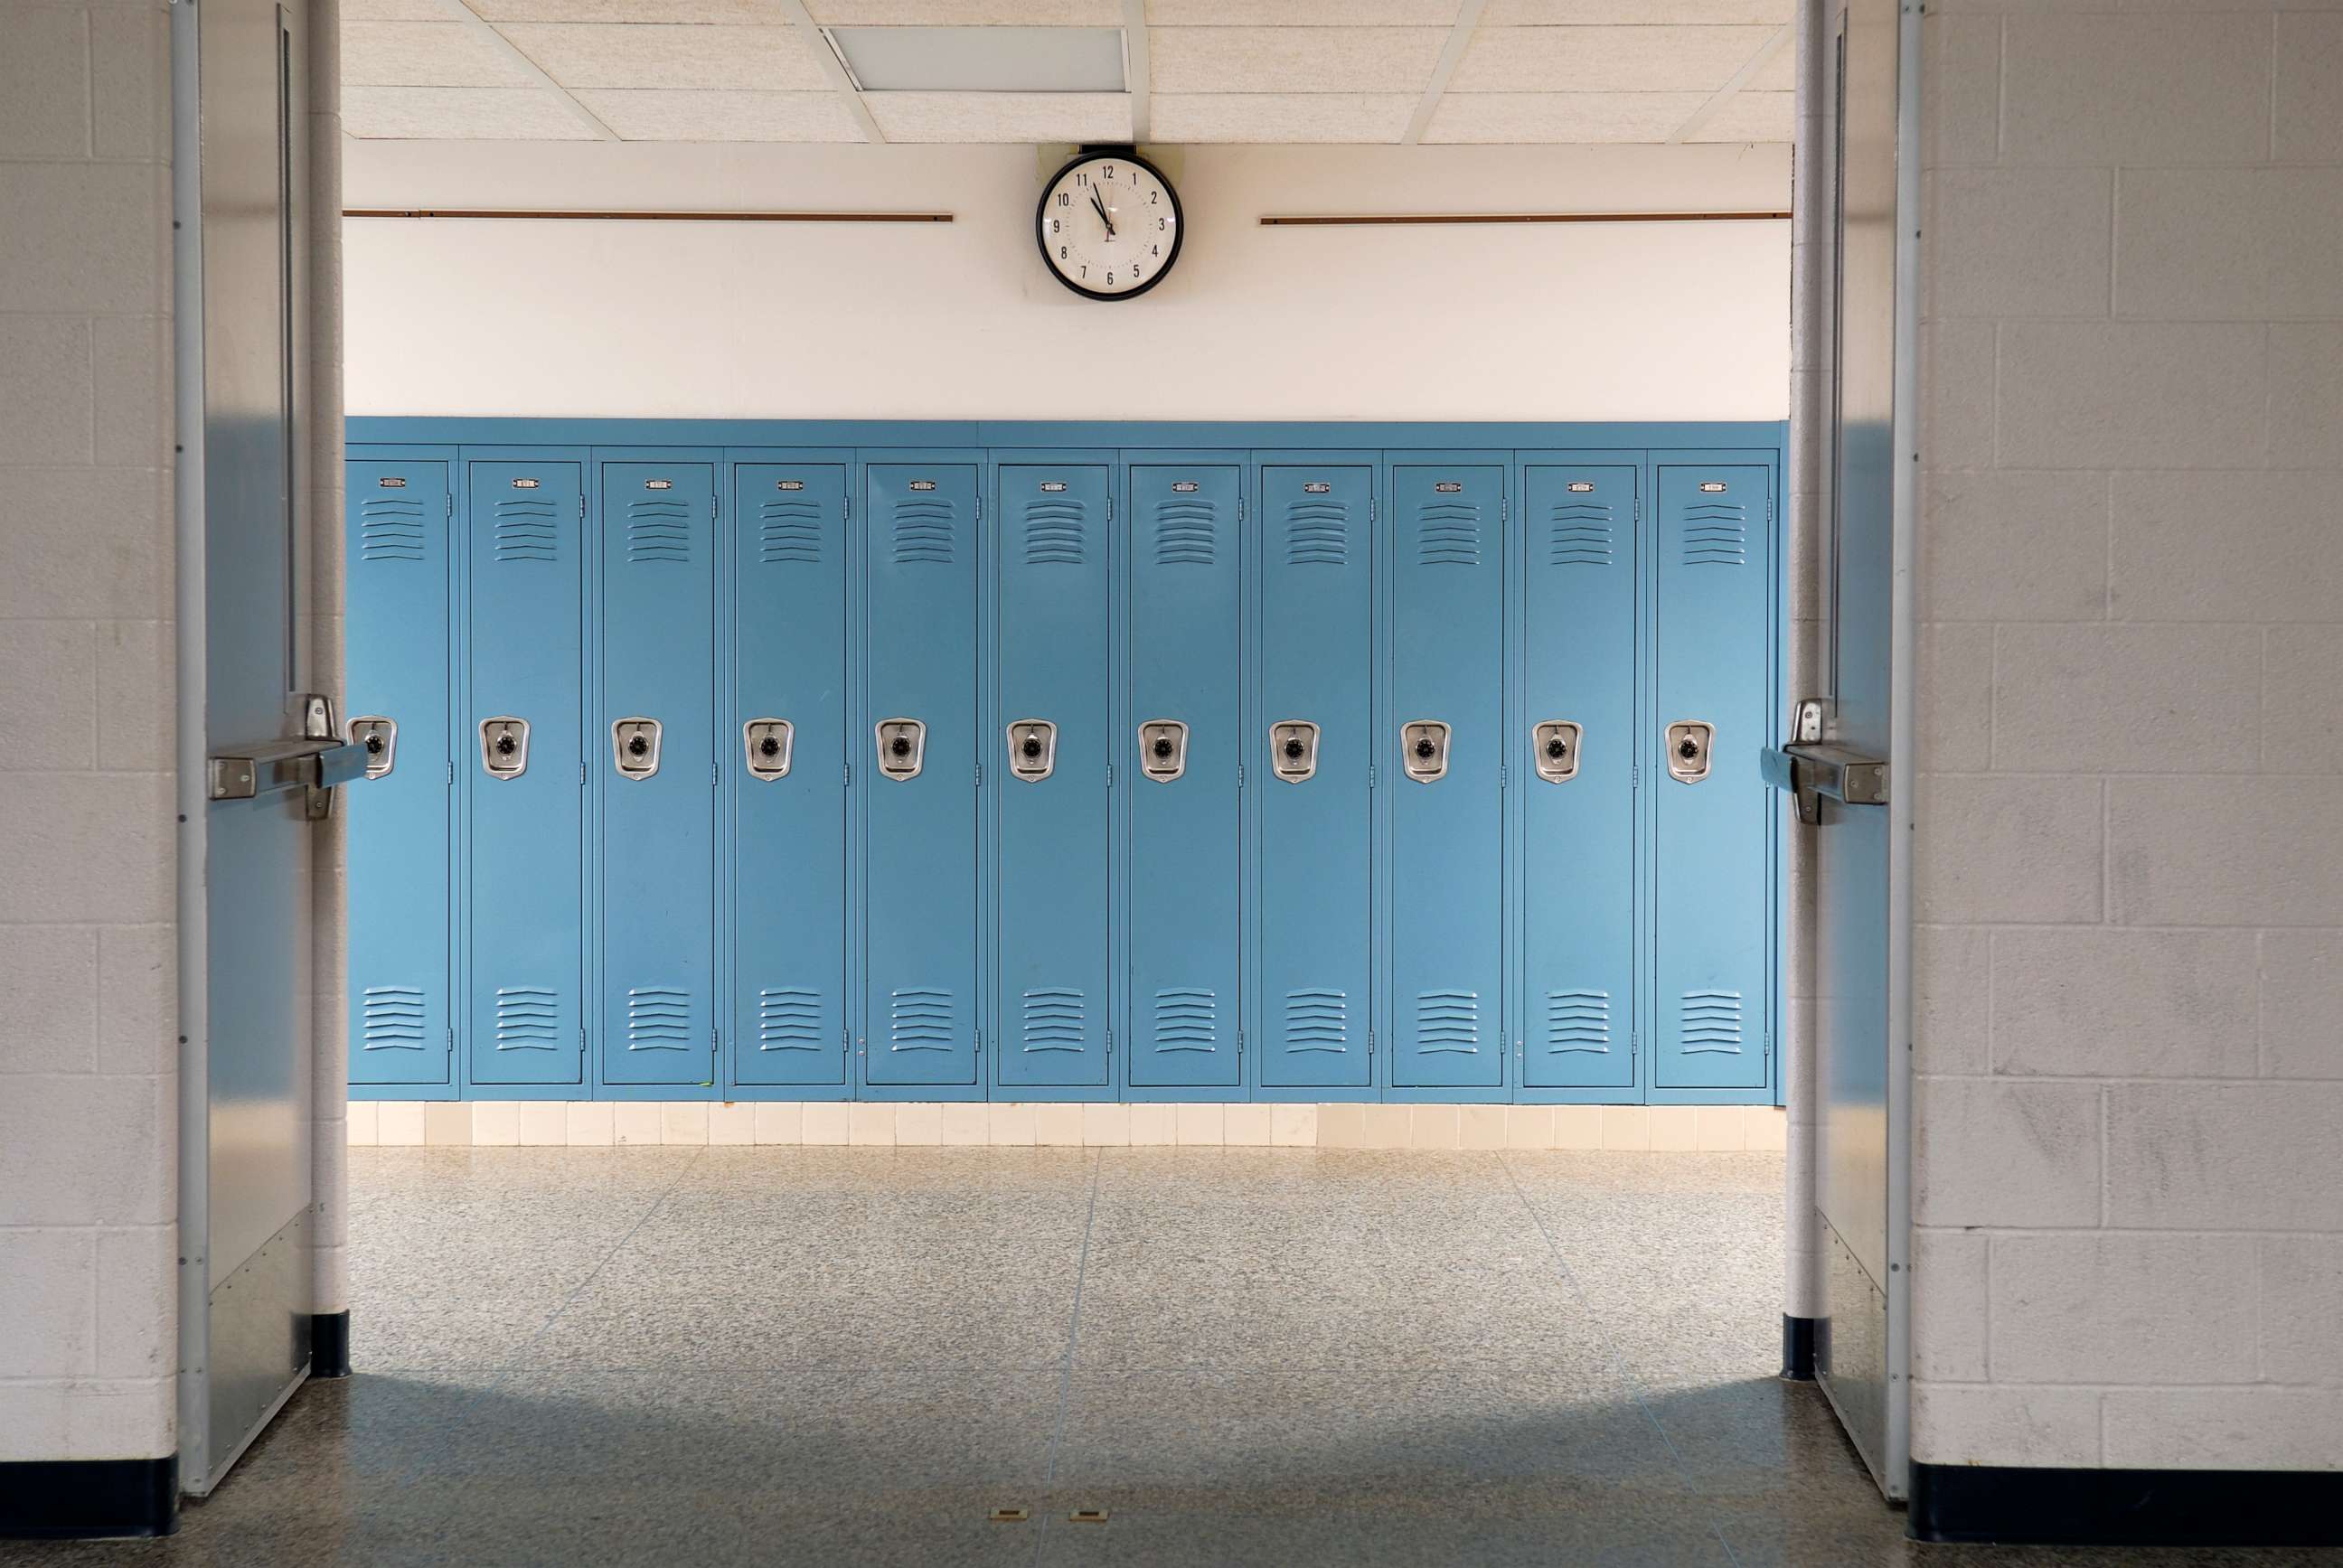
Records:
M344 0L422 141L1790 141L1792 0ZM858 91L825 26L1125 28L1143 91ZM1143 49L1141 49L1143 45Z

